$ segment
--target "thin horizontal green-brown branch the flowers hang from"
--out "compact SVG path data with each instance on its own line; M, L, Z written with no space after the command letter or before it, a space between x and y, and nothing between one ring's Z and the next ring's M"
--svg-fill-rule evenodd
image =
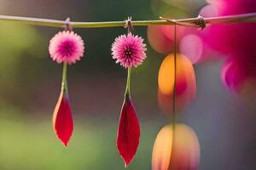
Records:
M179 26L194 26L201 27L199 24L199 17L189 18L182 20L133 20L132 26L160 26L160 25L174 25ZM230 24L230 23L242 23L242 22L256 22L256 13L248 14L236 14L226 15L218 17L204 18L205 24ZM62 27L66 24L65 20L49 20L28 18L20 16L8 16L0 15L0 21L11 21L21 24L27 24L32 26L52 26ZM109 22L70 22L70 25L74 28L102 28L102 27L117 27L125 26L125 21L109 21Z

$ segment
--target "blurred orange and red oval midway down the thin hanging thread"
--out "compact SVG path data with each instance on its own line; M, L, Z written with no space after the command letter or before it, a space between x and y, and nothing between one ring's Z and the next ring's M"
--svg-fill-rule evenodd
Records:
M183 108L189 101L195 99L196 80L193 65L183 54L177 54L176 72L176 105ZM160 65L158 76L158 101L162 111L172 111L172 96L174 86L174 55L169 54Z

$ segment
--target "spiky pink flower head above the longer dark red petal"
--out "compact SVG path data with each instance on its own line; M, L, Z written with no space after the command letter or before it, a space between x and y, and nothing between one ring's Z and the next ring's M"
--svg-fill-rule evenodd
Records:
M141 65L146 59L145 51L146 44L143 43L143 38L134 36L131 32L126 36L116 37L112 44L113 59L116 63L120 63L125 68Z

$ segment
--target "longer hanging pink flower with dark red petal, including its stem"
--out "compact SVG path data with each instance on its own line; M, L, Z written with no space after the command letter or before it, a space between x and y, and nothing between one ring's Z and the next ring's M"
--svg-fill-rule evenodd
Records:
M117 149L120 156L125 161L125 167L131 162L137 152L137 146L140 139L140 124L137 119L136 111L131 102L130 82L131 67L141 65L146 59L146 45L143 38L131 34L133 30L131 26L131 18L126 20L125 28L128 28L128 35L122 35L115 38L112 44L113 59L117 59L116 63L120 63L127 68L127 82L125 90L125 101L119 116L119 128L117 134Z

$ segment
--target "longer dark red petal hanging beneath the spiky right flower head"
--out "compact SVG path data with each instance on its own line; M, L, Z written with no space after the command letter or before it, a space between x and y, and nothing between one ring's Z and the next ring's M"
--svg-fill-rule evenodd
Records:
M140 124L130 97L125 97L117 137L117 149L125 161L125 167L131 162L137 151L140 138Z

